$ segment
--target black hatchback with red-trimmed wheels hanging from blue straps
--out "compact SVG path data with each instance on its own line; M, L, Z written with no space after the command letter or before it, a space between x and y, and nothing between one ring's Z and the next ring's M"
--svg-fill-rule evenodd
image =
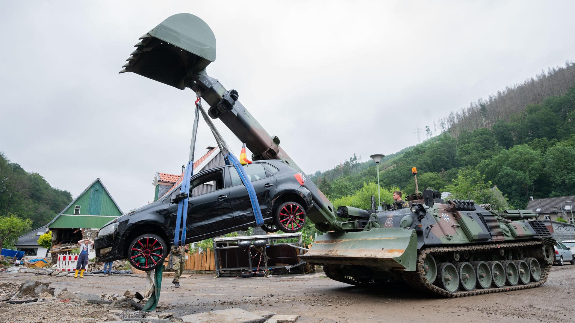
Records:
M281 160L244 165L254 185L267 232L301 230L312 197L302 175ZM163 263L174 243L181 184L158 201L142 206L106 224L94 249L99 261L128 258L140 270ZM233 166L202 171L191 178L186 218L186 243L256 226L247 189Z

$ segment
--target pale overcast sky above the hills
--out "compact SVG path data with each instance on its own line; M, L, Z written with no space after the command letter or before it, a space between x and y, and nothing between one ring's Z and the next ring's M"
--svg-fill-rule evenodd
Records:
M216 35L208 74L308 173L417 144L415 128L575 59L573 1L0 0L0 152L74 197L100 178L124 212L152 201L155 172L187 161L195 95L118 71L181 12ZM197 156L216 145L200 125Z

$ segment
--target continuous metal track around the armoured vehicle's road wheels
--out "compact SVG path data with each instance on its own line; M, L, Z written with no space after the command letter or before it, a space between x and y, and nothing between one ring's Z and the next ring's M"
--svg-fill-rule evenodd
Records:
M551 270L551 264L542 263L538 259L539 266L541 267L541 279L539 279L538 282L530 282L528 284L517 284L516 286L490 287L488 289L474 289L471 291L456 291L455 293L451 293L450 291L444 290L439 286L428 283L427 280L425 279L423 264L425 256L427 256L430 253L433 255L434 253L454 252L454 251L488 251L489 249L534 247L536 245L540 245L541 247L543 247L543 243L541 241L528 241L519 243L501 243L491 245L470 245L465 247L425 248L421 249L421 251L417 253L417 269L415 270L415 272L404 272L403 277L405 279L405 282L407 282L410 286L415 287L416 289L427 290L430 291L431 293L451 298L489 294L489 293L500 293L502 291L530 289L541 286L547 281L549 271Z

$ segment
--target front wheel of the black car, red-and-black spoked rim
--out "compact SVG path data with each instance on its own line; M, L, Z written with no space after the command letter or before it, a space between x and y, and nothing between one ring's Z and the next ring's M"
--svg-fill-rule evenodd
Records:
M148 271L161 266L168 255L166 241L158 234L146 233L137 236L129 244L128 259L138 270Z

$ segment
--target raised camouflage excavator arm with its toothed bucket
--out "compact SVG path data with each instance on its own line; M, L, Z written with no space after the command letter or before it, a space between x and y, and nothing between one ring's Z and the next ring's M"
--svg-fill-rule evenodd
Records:
M188 87L199 91L210 106L209 116L219 118L241 142L246 143L254 153L254 160L280 159L301 172L314 203L308 218L317 229L357 228L355 221L338 221L331 202L283 151L279 138L270 136L238 101L237 91L225 89L219 80L207 74L206 67L216 59L216 38L203 20L189 13L175 14L141 36L135 47L120 73L134 72L177 89Z

